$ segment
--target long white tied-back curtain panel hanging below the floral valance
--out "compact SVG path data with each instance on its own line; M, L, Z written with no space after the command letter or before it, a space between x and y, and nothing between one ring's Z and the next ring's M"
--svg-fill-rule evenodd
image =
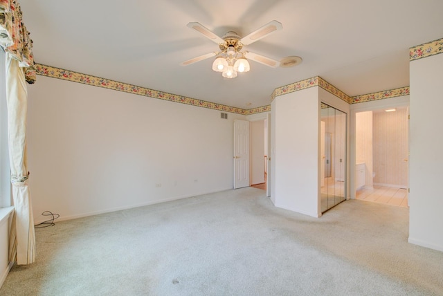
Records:
M6 100L12 198L15 205L9 255L10 261L17 259L17 264L29 264L35 261L35 231L26 167L28 92L24 71L10 53L6 53Z

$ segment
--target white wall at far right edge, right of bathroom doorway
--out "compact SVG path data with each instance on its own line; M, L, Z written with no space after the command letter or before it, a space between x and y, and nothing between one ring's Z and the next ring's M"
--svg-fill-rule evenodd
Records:
M443 251L443 54L410 62L410 243Z

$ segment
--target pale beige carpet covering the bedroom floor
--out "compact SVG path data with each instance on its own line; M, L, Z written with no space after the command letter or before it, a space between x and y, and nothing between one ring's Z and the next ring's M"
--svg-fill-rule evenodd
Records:
M443 253L408 209L345 201L320 219L253 187L36 230L0 295L443 295Z

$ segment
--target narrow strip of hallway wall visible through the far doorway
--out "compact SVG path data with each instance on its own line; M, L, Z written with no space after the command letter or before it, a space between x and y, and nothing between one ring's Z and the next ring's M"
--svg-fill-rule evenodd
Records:
M249 123L251 137L251 185L264 183L264 120Z

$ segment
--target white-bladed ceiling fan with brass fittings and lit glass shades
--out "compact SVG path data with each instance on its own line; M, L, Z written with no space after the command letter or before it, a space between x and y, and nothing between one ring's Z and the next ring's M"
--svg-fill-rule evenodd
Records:
M253 42L266 37L276 30L281 30L283 27L278 21L270 21L268 24L258 28L257 30L253 31L253 33L250 33L245 37L239 37L239 35L233 31L229 31L223 37L219 37L211 30L197 22L189 23L188 27L197 30L197 32L204 35L204 37L214 41L216 44L218 44L220 51L215 51L213 53L207 53L206 55L200 55L199 57L188 59L187 61L182 62L181 66L188 66L204 59L217 56L213 63L213 70L216 72L221 72L223 77L234 78L237 77L237 72L249 71L250 66L248 59L272 68L276 68L280 65L280 62L276 61L275 59L244 50L244 46L252 44Z

